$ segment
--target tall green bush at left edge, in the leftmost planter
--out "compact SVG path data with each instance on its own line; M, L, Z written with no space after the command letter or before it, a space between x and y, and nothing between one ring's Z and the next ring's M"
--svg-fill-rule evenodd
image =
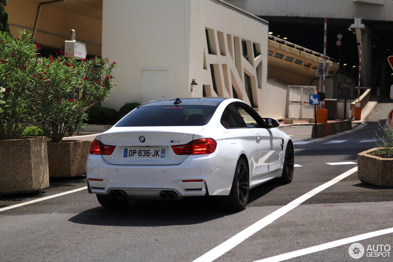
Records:
M30 37L26 31L20 31L17 39L0 33L0 140L21 137L33 120L38 61Z

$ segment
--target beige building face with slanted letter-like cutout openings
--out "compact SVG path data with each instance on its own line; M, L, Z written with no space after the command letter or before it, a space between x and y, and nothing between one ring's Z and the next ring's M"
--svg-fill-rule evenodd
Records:
M189 83L191 79L198 83L191 96L202 96L203 85L206 96L232 98L235 89L238 98L251 105L246 94L246 73L251 79L256 111L263 114L269 106L277 106L265 99L268 22L219 0L192 0L191 3ZM208 54L206 29L211 54ZM248 59L243 55L242 41L246 43ZM253 44L257 54L254 54ZM214 68L217 93L213 90L210 65Z

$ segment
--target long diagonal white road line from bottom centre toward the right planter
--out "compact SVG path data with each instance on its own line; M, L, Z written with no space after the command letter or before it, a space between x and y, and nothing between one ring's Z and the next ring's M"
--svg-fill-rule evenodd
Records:
M281 216L285 215L288 213L290 210L294 209L307 199L309 199L312 196L315 196L322 190L328 188L331 185L334 185L335 183L341 181L345 177L353 174L354 172L358 171L358 167L354 167L347 172L339 175L338 177L335 177L331 181L326 182L323 185L318 186L317 188L314 188L310 192L304 194L301 197L298 197L294 201L288 203L288 205L281 207L277 210L275 210L273 213L265 216L261 220L255 222L254 224L250 225L250 227L247 227L243 231L237 233L235 236L232 236L230 239L226 240L224 243L218 245L217 247L211 249L208 253L205 253L204 255L196 258L193 262L211 262L215 260L216 258L224 255L226 252L230 251L233 247L239 245L241 242L255 234L256 232L260 231L270 223L272 223L274 220L277 218L280 218Z

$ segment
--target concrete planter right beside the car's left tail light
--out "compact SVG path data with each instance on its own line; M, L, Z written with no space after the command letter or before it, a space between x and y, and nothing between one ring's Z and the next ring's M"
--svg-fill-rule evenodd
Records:
M86 175L90 141L48 141L49 177Z

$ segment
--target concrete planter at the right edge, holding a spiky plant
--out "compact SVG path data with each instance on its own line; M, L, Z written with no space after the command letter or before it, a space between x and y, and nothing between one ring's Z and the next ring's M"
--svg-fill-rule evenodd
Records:
M358 178L376 186L393 186L393 158L369 155L377 148L358 154Z

